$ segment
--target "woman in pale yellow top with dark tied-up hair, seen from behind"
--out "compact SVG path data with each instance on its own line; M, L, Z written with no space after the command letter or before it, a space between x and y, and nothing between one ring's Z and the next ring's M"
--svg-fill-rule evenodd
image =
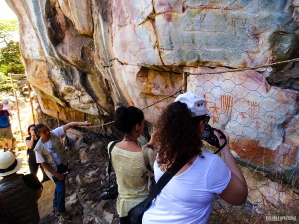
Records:
M117 212L120 224L129 224L128 212L142 202L149 195L148 178L141 177L145 169L143 148L137 138L144 131L144 113L136 107L119 107L115 112L114 125L123 134L123 140L118 142L111 151L111 161L117 177L118 192ZM150 147L155 141L155 134L151 134ZM108 144L108 150L112 142ZM156 154L149 149L149 165L153 170Z

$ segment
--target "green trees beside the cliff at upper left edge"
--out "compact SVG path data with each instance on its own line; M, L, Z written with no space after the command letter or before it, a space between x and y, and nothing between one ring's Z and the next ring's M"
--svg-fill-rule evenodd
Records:
M13 35L18 31L17 20L0 20L0 90L10 91L9 73L25 73L21 61L18 41L13 40Z

